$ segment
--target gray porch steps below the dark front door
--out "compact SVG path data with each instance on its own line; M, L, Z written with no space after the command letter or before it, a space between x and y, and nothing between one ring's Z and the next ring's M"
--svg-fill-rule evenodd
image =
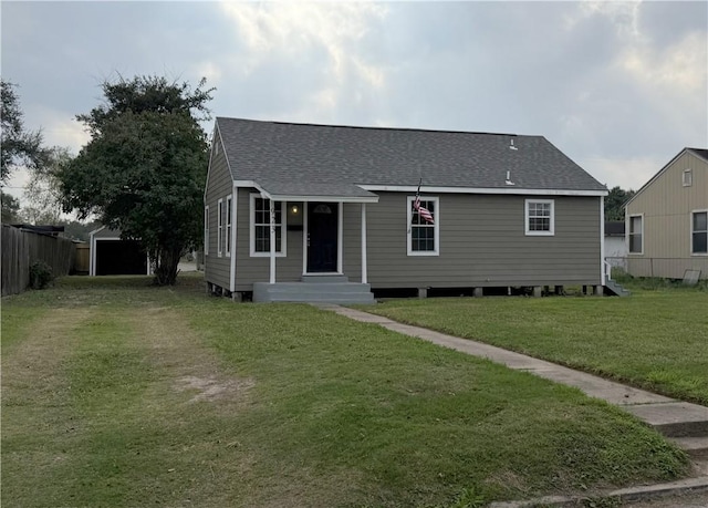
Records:
M256 282L254 302L374 303L369 284L348 282L345 276L303 276L302 282Z

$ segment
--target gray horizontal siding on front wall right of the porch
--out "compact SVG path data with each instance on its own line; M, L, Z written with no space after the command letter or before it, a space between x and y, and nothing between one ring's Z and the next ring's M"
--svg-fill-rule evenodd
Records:
M555 201L555 235L525 236L524 196L440 195L440 256L406 255L406 195L368 207L373 288L601 283L600 198ZM534 196L535 198L535 196Z

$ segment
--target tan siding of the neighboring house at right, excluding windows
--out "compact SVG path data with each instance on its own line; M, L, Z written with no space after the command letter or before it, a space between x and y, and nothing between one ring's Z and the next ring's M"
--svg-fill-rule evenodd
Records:
M689 187L683 185L685 169L693 170ZM644 214L644 252L628 255L629 272L681 278L686 269L705 267L704 260L691 259L701 256L690 253L691 210L698 209L708 209L708 163L684 152L626 208L627 220L632 215Z

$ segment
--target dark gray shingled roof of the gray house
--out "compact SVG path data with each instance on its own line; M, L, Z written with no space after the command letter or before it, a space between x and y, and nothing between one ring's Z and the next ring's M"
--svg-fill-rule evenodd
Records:
M543 136L217 118L233 179L278 195L371 196L356 185L606 190ZM511 149L510 145L517 149Z

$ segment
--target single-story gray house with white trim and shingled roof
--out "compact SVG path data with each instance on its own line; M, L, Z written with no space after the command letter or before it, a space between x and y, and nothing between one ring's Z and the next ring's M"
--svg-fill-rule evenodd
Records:
M542 136L218 117L205 278L254 301L600 293L606 195Z

